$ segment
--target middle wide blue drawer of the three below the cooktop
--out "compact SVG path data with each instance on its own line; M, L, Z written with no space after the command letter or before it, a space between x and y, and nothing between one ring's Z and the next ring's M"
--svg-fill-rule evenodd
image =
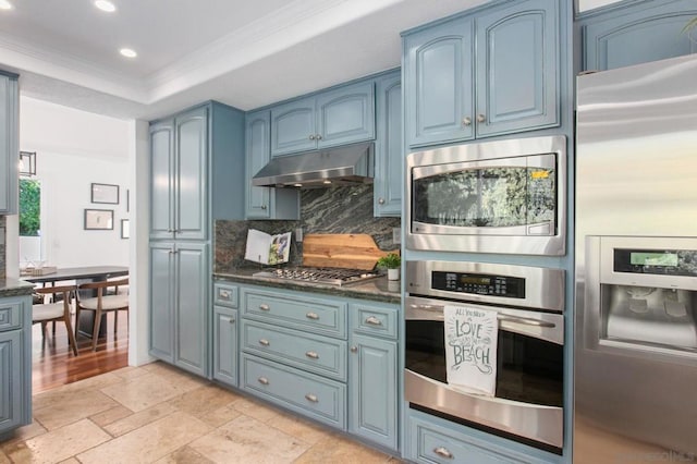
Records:
M346 380L346 342L260 322L242 322L242 346L301 369Z

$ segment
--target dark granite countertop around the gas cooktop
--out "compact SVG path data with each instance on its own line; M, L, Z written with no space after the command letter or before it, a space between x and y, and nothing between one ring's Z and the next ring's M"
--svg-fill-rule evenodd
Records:
M338 286L327 283L278 280L252 276L258 271L258 268L237 268L234 271L213 272L213 278L230 282L249 283L276 289L298 290L302 292L323 293L326 295L345 296L348 298L371 300L375 302L393 304L400 304L401 302L401 281L388 281L387 277L379 277L364 282Z

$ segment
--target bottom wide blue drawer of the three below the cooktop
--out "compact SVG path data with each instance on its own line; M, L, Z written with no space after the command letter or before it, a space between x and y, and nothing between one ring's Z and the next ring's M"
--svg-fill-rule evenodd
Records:
M346 386L292 367L242 355L242 388L342 430Z

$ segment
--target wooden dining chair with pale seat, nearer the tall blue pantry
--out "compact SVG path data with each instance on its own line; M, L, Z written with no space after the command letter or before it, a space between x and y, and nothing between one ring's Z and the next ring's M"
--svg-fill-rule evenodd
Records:
M113 332L117 333L119 326L119 312L129 314L129 295L119 292L119 288L129 285L129 278L119 280L105 280L100 282L88 282L77 286L75 294L75 320L80 320L80 313L91 310L95 313L95 325L91 332L91 350L97 351L101 316L106 313L114 314ZM113 289L111 291L110 289ZM75 335L77 335L77 322L75 323Z

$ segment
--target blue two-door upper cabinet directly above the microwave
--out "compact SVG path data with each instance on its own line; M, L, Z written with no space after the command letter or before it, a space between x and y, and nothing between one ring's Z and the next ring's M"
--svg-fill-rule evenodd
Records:
M405 33L407 145L559 125L559 17L525 0Z

